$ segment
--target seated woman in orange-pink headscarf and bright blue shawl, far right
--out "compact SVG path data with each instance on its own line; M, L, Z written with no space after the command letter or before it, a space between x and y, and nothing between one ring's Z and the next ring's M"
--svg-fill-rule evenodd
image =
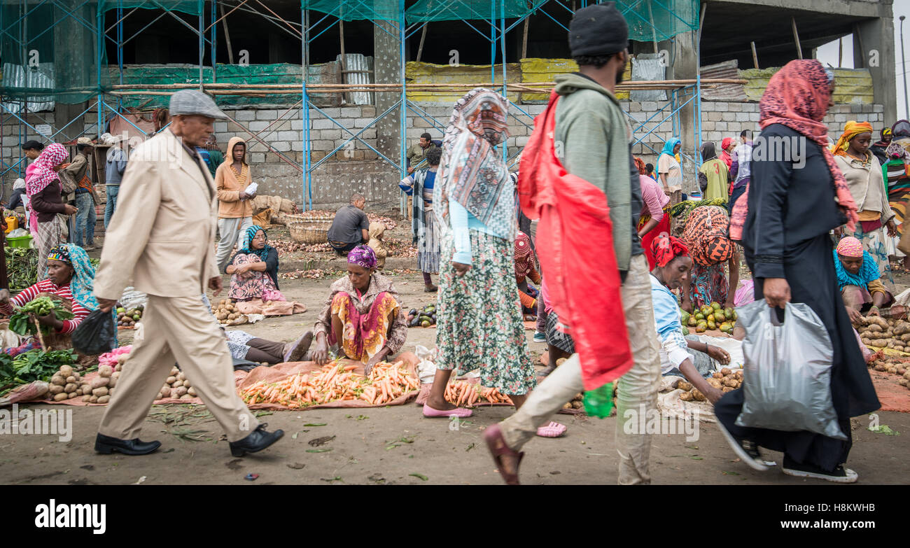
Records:
M894 301L882 283L875 259L858 239L852 236L841 239L834 249L834 269L850 320L856 322L862 313L878 316L881 307Z

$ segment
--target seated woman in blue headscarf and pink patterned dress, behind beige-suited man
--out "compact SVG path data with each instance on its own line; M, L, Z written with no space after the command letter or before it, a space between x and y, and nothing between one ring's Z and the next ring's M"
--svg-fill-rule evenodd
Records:
M230 259L227 297L235 300L285 300L278 291L278 250L266 244L266 231L258 225L247 228L243 249Z

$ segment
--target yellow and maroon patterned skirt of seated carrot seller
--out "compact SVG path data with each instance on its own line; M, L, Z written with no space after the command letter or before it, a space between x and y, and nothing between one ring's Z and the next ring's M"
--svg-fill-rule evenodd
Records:
M344 332L340 342L336 340L334 332L329 332L329 344L338 344L351 360L367 363L389 340L389 328L392 320L398 316L399 307L394 297L382 291L376 296L369 311L361 314L350 295L339 291L332 299L332 316L339 317Z

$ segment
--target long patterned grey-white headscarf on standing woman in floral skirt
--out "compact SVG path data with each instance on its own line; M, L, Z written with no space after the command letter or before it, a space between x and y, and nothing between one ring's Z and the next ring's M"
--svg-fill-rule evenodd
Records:
M483 87L470 90L455 104L442 138L434 188L434 201L440 207L433 210L444 226L452 199L494 233L514 238L515 196L507 184L509 167L494 148L509 137L508 115L506 100Z

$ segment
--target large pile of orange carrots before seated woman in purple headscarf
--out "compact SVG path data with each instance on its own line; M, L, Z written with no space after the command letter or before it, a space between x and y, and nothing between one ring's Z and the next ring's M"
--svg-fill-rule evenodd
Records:
M258 381L241 391L240 397L247 403L278 403L288 409L345 400L381 405L420 389L420 381L401 367L403 363L380 362L366 377L353 372L357 365L329 363L316 372L290 375L283 381Z

